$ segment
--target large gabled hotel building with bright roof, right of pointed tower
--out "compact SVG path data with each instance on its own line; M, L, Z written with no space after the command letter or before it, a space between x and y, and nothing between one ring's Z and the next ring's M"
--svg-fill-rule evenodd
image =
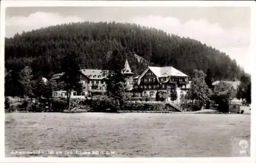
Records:
M148 66L141 75L133 79L133 91L139 93L140 96L147 95L156 98L159 91L169 95L172 90L176 89L178 96L176 102L179 102L180 95L185 95L190 87L188 76L172 66Z

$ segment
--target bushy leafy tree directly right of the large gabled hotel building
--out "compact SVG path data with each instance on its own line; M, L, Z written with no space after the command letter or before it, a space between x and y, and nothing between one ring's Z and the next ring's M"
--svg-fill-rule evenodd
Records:
M190 100L196 101L200 107L210 100L209 97L211 95L211 90L205 83L205 77L206 75L203 71L195 69L193 71L190 89L187 92L187 97Z

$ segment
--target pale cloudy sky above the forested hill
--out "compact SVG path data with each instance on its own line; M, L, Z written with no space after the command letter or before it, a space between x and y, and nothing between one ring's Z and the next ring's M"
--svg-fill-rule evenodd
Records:
M9 7L6 37L79 21L131 22L197 39L251 73L249 7Z

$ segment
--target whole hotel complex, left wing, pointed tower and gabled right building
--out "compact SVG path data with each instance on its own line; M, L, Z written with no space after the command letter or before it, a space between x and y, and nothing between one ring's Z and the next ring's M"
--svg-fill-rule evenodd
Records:
M88 95L104 95L106 93L106 76L101 69L81 69L82 91L72 91L71 98L86 98ZM148 66L139 76L134 77L129 62L125 61L122 74L125 77L126 90L137 93L139 96L146 94L155 98L158 91L170 94L176 89L179 102L180 95L186 94L189 89L188 76L172 66L153 67ZM53 79L57 82L62 81L64 74L56 74ZM53 91L54 98L67 97L65 90Z

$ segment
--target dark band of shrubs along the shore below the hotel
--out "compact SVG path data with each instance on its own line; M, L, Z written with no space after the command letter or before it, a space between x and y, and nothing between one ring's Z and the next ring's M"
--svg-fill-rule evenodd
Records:
M70 110L65 109L65 99L9 99L5 101L6 112L175 112L173 108L166 107L165 103L157 102L124 102L122 108L114 99L96 96L91 99L74 99ZM187 110L187 109L186 109ZM191 110L194 111L194 110Z

